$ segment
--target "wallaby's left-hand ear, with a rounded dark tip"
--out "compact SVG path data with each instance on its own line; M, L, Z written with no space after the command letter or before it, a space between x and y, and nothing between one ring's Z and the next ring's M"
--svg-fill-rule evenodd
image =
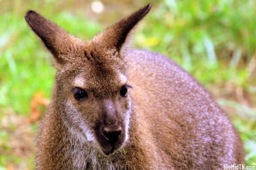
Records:
M57 24L32 10L26 13L25 20L37 36L40 37L46 48L52 53L56 59L56 69L59 69L68 60L64 56L69 53L74 37L70 36Z

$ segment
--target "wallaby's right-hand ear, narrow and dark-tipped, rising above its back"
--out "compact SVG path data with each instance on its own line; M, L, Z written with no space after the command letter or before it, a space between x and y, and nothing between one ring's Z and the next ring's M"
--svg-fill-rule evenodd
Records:
M148 13L151 9L151 4L139 9L127 18L109 27L103 33L95 37L95 40L102 41L110 48L116 48L119 53L122 53L130 45L129 39L133 31L133 27Z

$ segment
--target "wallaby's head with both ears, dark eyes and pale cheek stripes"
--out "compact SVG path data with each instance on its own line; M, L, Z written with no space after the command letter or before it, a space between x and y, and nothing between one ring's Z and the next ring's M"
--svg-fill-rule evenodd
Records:
M51 52L57 69L53 101L69 131L105 155L128 140L132 101L123 55L147 5L91 41L71 36L34 11L25 20ZM86 30L85 30L86 31Z

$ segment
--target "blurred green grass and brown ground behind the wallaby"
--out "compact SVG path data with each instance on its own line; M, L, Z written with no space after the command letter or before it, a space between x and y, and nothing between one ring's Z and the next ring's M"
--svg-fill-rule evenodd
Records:
M31 103L51 96L55 70L24 20L34 9L69 33L90 39L149 3L102 1L96 14L83 0L0 0L0 170L33 169L40 120ZM152 0L133 46L157 51L190 72L213 95L241 134L246 163L256 166L256 1ZM43 113L44 105L39 106Z

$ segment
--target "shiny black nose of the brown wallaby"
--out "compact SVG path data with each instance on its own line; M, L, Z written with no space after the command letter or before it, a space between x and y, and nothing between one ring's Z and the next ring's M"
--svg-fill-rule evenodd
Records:
M111 144L118 141L122 128L120 126L106 125L103 128L103 134Z

